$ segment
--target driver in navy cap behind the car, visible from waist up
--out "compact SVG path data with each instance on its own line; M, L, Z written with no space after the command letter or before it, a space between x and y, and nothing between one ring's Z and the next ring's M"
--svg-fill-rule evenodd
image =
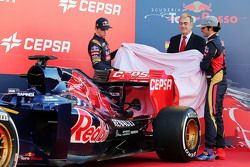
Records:
M111 66L111 60L116 51L110 53L109 44L105 40L110 28L108 19L101 17L96 20L95 34L88 45L88 53L95 70L115 69Z

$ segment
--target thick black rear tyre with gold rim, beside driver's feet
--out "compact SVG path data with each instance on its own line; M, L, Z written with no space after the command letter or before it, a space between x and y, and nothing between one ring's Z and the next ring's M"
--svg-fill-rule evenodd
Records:
M156 153L164 161L188 162L200 145L200 123L190 107L166 107L153 123Z

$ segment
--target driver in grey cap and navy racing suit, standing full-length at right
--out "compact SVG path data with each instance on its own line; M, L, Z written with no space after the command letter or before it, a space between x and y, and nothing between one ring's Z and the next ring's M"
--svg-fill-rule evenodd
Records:
M225 159L223 99L227 89L225 49L217 32L220 23L214 16L207 16L201 24L201 32L208 38L200 68L206 73L207 95L205 104L205 151L197 160Z

